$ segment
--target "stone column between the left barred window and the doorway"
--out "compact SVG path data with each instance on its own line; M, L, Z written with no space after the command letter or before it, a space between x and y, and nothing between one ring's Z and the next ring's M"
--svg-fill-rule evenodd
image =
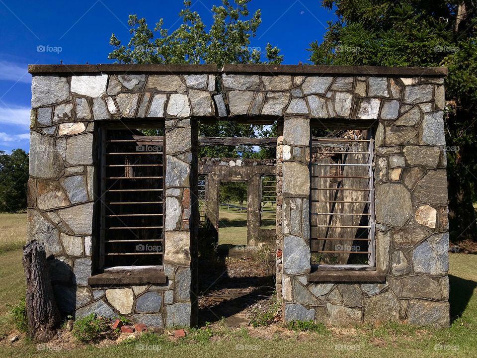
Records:
M191 136L190 119L166 120L164 270L175 287L173 302L164 306L168 327L191 323Z

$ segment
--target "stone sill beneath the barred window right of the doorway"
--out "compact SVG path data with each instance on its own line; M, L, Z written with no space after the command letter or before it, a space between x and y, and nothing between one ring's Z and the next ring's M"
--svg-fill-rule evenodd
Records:
M312 268L313 269L313 268ZM322 269L315 270L308 274L308 282L385 282L386 275L377 272L374 268L362 269Z

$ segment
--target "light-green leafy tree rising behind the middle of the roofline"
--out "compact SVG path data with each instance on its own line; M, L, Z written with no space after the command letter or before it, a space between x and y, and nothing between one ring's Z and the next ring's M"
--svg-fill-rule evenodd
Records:
M162 18L152 30L145 18L129 15L128 24L132 35L127 45L123 45L113 33L110 44L115 49L108 58L119 63L165 63L200 64L209 63L222 66L232 63L280 64L283 56L280 49L267 43L265 50L251 47L250 39L255 37L261 23L261 11L250 15L248 3L251 0L222 0L222 5L212 6L212 25L207 28L197 11L191 10L191 1L184 1L179 12L181 25L169 32L163 27ZM263 126L239 124L231 121L217 121L214 125L199 123L201 136L213 137L255 137ZM241 154L252 155L251 147L241 148ZM237 157L236 148L205 147L200 149L200 157Z

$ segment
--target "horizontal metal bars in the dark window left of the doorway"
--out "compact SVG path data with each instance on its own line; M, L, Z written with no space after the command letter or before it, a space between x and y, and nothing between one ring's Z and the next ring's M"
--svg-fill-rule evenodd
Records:
M100 135L99 264L161 266L164 137L126 128L101 128Z

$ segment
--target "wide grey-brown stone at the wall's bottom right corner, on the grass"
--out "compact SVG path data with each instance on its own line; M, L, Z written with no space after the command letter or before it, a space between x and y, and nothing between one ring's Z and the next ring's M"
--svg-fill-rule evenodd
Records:
M407 322L416 326L449 327L449 302L413 299L409 302Z

